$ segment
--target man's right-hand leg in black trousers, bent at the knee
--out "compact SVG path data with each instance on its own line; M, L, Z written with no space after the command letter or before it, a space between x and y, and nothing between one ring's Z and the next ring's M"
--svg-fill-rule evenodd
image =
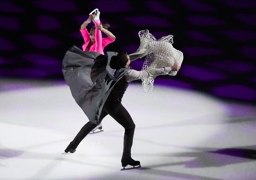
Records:
M131 158L131 148L133 144L133 136L135 131L135 123L128 111L120 103L115 109L110 106L104 106L104 110L112 116L115 121L121 124L125 129L124 133L124 144L123 144L123 155L122 159Z

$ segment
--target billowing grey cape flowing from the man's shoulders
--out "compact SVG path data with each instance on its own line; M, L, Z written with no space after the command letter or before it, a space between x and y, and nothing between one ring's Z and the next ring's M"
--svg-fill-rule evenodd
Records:
M63 76L72 96L95 124L115 83L130 70L130 67L116 66L117 54L108 51L104 56L72 46L62 61Z

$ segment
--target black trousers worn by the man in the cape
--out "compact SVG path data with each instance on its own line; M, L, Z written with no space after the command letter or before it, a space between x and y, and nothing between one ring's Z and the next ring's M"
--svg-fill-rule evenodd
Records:
M131 148L133 144L133 136L135 131L135 123L133 122L131 116L129 115L128 111L119 103L117 106L112 103L112 101L107 100L104 104L99 123L101 123L102 119L110 115L121 124L122 127L125 129L124 133L124 142L123 142L123 154L122 158L128 159L131 157ZM93 122L86 123L79 133L75 136L74 140L70 142L70 146L72 148L77 148L79 143L85 138L86 135L89 134L91 130L93 130L97 124Z

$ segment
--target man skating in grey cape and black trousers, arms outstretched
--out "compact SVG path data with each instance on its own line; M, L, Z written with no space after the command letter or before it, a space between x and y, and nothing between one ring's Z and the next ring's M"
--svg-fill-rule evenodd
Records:
M131 57L135 60L145 55L134 53ZM130 69L130 61L127 52L107 52L107 55L103 56L97 52L81 51L75 46L67 51L62 62L63 75L74 99L88 116L89 122L67 146L66 153L74 153L84 137L100 124L105 116L110 115L125 129L121 170L125 170L127 165L133 166L132 168L141 167L140 161L131 158L135 123L122 106L121 99L131 81L171 75L174 71L179 71L179 66L135 71Z

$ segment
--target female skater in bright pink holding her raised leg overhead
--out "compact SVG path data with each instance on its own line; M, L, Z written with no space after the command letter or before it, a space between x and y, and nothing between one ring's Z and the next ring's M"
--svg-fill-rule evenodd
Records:
M93 20L94 25L88 33L86 26ZM84 39L84 44L82 46L83 51L94 51L104 55L103 49L109 43L115 41L115 36L113 33L108 31L109 24L101 25L100 21L100 11L99 9L94 9L90 14L88 19L81 25L80 32ZM102 39L101 32L104 32L108 37ZM97 131L99 130L99 131ZM90 134L101 132L102 124L100 123L97 127L92 129Z

